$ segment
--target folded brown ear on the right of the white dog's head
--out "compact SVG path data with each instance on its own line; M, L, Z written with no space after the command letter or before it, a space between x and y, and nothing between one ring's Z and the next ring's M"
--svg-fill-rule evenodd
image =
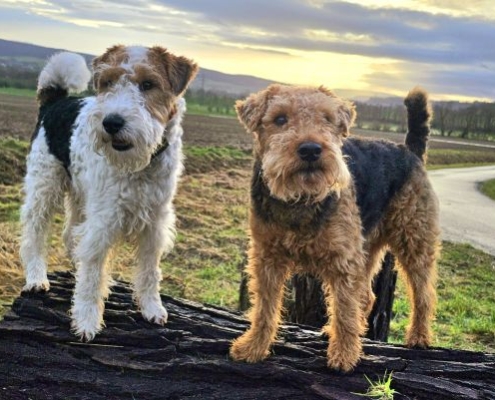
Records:
M159 56L172 92L177 96L182 94L198 73L198 64L186 57L175 56L159 46L152 47L150 53Z

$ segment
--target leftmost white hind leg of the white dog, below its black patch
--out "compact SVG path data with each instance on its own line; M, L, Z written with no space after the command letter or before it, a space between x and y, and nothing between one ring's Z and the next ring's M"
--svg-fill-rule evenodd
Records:
M41 138L38 142L41 142ZM26 274L23 291L49 290L46 252L55 211L61 207L67 173L55 157L43 153L44 143L36 143L28 156L24 181L25 200L21 208L20 256Z

